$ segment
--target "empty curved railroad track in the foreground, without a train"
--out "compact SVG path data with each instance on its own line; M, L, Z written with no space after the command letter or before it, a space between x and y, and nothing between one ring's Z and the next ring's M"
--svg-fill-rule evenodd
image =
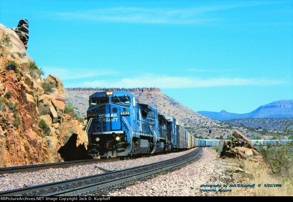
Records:
M148 165L132 167L118 171L109 171L103 174L96 174L76 179L69 179L60 182L41 184L24 187L20 189L0 192L0 196L74 196L103 189L115 184L124 183L138 179L194 160L200 154L202 148L197 148L191 153L169 160L156 162Z

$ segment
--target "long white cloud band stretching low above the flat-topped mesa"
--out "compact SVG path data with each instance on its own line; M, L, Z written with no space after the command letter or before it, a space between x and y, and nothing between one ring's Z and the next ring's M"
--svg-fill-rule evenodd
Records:
M119 88L202 88L216 86L235 85L280 85L287 83L282 80L271 80L265 78L209 78L198 79L193 77L168 77L147 75L136 78L122 78L116 80L96 80L93 82L82 82L72 87L119 87Z

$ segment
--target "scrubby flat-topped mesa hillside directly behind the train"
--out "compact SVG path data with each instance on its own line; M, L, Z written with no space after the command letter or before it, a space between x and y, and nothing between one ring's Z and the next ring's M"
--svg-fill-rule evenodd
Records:
M140 103L151 105L158 109L160 114L173 115L178 123L185 127L195 136L209 139L230 136L235 130L241 131L248 137L260 136L257 132L251 132L244 127L232 126L230 124L205 117L176 100L161 93L158 88L133 88L133 89L103 89L103 88L67 88L66 102L75 107L75 112L86 117L88 108L88 97L98 91L125 90L139 98Z

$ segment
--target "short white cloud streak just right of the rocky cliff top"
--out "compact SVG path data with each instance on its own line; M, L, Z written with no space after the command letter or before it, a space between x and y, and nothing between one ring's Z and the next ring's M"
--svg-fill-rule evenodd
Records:
M80 78L91 78L95 76L103 75L115 75L116 72L113 70L105 69L93 69L93 70L83 70L80 68L57 68L57 67L44 67L45 75L47 77L49 74L53 74L60 78L61 80L68 79L80 79Z

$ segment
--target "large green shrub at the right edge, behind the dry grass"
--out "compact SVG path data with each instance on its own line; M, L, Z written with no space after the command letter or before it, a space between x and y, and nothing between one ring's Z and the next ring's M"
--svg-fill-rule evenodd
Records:
M293 177L293 143L258 146L259 153L270 169L271 174L280 177Z

